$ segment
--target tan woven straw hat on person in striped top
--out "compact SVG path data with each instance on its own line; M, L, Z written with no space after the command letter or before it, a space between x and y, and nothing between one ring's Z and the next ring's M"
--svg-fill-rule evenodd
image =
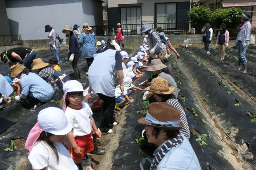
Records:
M175 87L169 87L166 79L157 77L152 79L151 85L144 89L145 91L151 91L154 94L172 94L175 91Z

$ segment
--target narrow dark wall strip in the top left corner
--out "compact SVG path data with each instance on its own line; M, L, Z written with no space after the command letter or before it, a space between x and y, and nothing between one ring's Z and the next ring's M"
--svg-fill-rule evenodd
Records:
M10 35L5 0L0 0L0 35Z

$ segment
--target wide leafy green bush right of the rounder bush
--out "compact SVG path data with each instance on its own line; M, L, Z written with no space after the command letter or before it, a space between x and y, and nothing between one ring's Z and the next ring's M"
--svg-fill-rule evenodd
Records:
M225 8L216 9L211 16L211 21L214 23L215 27L218 27L221 23L227 24L227 28L237 28L239 26L240 20L239 15L243 14L245 11L241 8Z

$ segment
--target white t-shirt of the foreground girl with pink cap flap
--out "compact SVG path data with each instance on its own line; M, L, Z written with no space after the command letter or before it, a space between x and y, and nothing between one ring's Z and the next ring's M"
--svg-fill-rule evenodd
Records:
M61 142L54 142L58 151L59 163L57 164L56 156L49 145L44 142L37 142L29 153L29 161L33 170L78 170L70 153Z

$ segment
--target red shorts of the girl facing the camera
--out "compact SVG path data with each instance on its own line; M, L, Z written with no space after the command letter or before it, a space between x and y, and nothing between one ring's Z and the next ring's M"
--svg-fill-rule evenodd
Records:
M82 153L76 154L73 151L73 148L71 147L71 149L68 151L73 159L74 158L83 158L84 153L92 152L94 150L92 133L90 133L89 135L85 135L85 136L76 136L75 140L76 140L76 144L78 145L78 147L81 148Z

